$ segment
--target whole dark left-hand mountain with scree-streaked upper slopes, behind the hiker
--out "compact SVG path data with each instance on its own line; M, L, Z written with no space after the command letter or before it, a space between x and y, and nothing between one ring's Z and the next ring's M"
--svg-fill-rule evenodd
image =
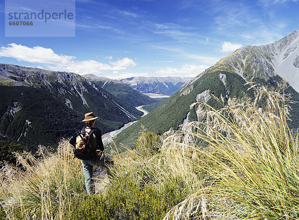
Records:
M52 145L83 126L86 112L99 116L102 133L143 114L68 72L0 64L0 135L26 145Z

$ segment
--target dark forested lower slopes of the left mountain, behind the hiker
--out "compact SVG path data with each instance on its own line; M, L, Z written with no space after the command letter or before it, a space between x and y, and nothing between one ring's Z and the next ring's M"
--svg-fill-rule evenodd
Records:
M121 128L129 119L103 96L89 93L89 108L73 99L69 108L47 90L27 86L0 86L0 133L25 145L51 145L80 130L87 111L99 116L97 126L103 133ZM64 97L62 98L64 100ZM78 101L79 102L79 101ZM125 104L124 104L125 106ZM131 107L132 108L132 107ZM13 111L15 109L15 111ZM142 112L132 108L137 115ZM109 114L114 112L114 114Z

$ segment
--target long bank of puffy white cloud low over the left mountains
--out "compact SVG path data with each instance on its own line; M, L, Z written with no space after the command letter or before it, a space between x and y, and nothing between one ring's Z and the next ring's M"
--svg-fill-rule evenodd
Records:
M125 70L137 64L130 58L118 59L110 62L111 65L95 60L76 60L75 56L56 54L51 48L34 46L32 48L21 44L11 43L0 47L0 57L10 57L18 61L39 63L46 65L50 70L75 72L78 74L102 73L103 71Z

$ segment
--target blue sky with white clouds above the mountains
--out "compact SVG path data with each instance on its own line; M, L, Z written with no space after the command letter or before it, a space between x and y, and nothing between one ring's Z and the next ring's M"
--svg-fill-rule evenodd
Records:
M299 29L299 0L76 0L71 37L7 37L4 8L0 63L112 79L195 77Z

